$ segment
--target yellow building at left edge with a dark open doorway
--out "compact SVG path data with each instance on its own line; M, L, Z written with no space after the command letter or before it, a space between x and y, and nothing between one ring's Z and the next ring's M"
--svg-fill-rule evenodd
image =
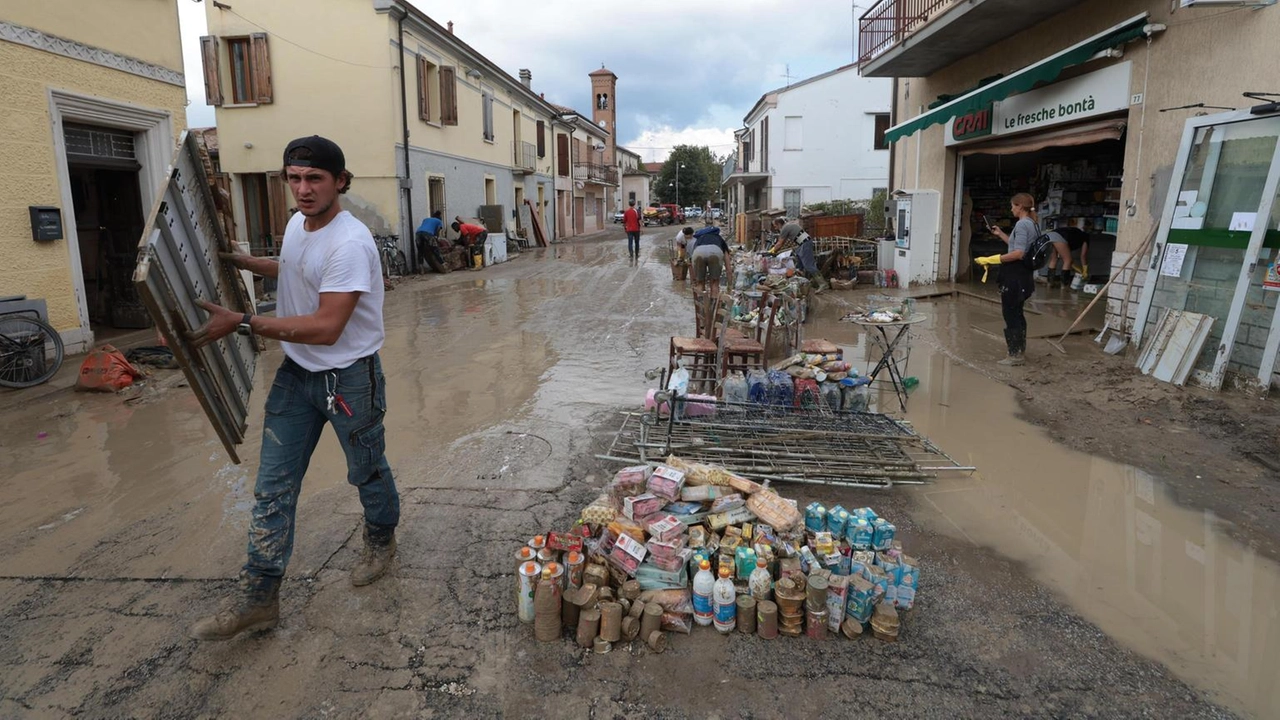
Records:
M186 101L175 3L0 1L0 295L42 300L68 352L150 325L132 272Z

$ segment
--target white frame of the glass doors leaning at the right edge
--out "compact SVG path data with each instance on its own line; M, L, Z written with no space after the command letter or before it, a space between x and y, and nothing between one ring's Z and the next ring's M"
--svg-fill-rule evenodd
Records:
M1147 265L1147 282L1142 287L1142 301L1138 305L1138 316L1134 319L1133 338L1140 347L1143 331L1147 327L1147 318L1151 314L1151 304L1156 296L1156 283L1160 282L1160 268L1164 263L1165 249L1169 245L1169 231L1174 222L1174 209L1178 205L1178 193L1181 190L1183 177L1187 173L1187 163L1190 159L1190 147L1196 140L1196 132L1201 128L1213 126L1229 126L1251 120L1274 119L1275 114L1258 115L1252 110L1234 110L1188 118L1183 126L1183 140L1178 147L1178 159L1174 163L1174 173L1169 181L1169 193L1165 197L1165 209L1160 215L1160 229L1156 242L1152 246L1151 260ZM1267 234L1267 223L1271 219L1271 209L1275 204L1276 188L1280 187L1280 140L1276 142L1275 152L1271 156L1271 167L1267 170L1266 182L1262 184L1262 200L1258 202L1258 220L1253 223L1253 232L1249 233L1249 243L1244 249L1244 258L1240 263L1240 273L1235 281L1235 295L1231 297L1231 309L1228 313L1226 323L1222 325L1222 340L1217 347L1217 356L1213 359L1213 369L1207 377L1201 377L1199 384L1219 389L1226 378L1226 365L1231 359L1231 350L1235 346L1235 336L1239 331L1240 316L1244 314L1244 302L1248 296L1249 279L1257 268L1262 250L1262 242ZM1262 352L1262 363L1258 369L1258 379L1263 387L1270 386L1271 369L1276 361L1276 348L1280 347L1280 331L1276 320L1280 319L1280 306L1271 320L1271 331L1267 336L1267 345ZM1124 319L1121 319L1124 322ZM1263 379L1266 378L1266 379Z

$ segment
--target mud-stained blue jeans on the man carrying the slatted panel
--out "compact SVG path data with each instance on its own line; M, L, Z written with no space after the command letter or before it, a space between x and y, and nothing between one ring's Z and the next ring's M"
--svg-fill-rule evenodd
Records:
M351 407L328 410L328 388ZM325 424L332 424L347 455L347 482L360 491L365 528L372 542L390 539L399 523L399 495L387 464L387 387L378 355L342 370L312 373L284 359L275 373L262 420L262 456L253 486L244 574L262 580L284 577L293 553L293 519L311 454Z

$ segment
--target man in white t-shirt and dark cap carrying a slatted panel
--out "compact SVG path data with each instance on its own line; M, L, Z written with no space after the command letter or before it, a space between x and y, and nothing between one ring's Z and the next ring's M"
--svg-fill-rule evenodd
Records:
M338 436L347 482L356 486L365 507L365 547L351 583L372 583L396 555L399 495L383 429L387 388L378 350L385 333L378 247L369 228L342 209L338 196L351 187L352 176L334 142L319 136L294 140L284 150L283 174L298 213L284 231L279 261L221 255L237 268L279 278L276 316L241 315L201 301L209 320L189 336L200 347L239 332L279 340L284 348L262 419L242 592L192 626L198 639L228 639L279 623L298 492L326 424Z

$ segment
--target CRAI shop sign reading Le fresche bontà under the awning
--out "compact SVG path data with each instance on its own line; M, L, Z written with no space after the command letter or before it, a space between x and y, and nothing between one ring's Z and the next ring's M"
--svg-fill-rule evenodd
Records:
M947 122L946 143L961 145L1125 110L1129 108L1132 65L1133 63L1111 65L952 118Z

